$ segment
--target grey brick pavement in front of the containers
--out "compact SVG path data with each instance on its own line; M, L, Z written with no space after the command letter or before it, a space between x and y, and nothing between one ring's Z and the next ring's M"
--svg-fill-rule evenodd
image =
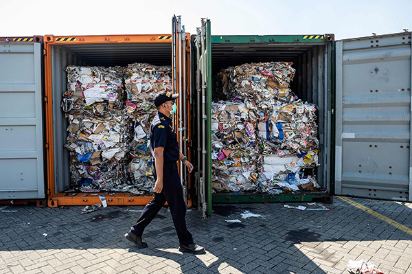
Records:
M412 228L411 203L351 199ZM203 255L177 251L167 209L144 234L149 248L137 249L123 235L141 207L106 207L90 214L80 214L78 206L7 207L3 210L17 212L0 211L0 273L347 273L348 260L364 259L385 274L412 274L409 233L336 197L328 207L214 205L208 220L191 209L188 227L207 248ZM243 219L245 210L264 217ZM225 222L231 219L242 222Z

